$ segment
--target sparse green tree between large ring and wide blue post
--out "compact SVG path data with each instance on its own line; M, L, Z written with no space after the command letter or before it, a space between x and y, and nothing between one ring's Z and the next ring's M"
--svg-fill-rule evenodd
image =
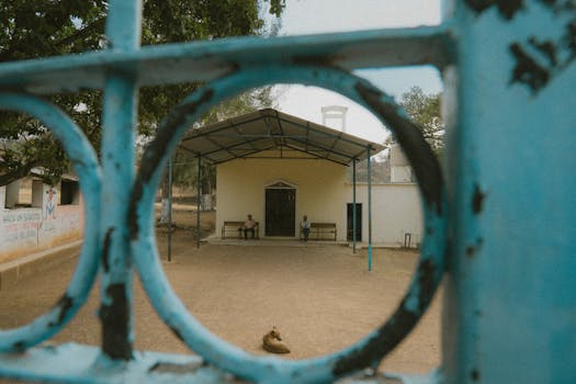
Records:
M408 92L403 93L399 102L439 157L444 148L444 123L440 116L440 93L425 94L421 88L413 87ZM391 140L386 144L392 144Z

